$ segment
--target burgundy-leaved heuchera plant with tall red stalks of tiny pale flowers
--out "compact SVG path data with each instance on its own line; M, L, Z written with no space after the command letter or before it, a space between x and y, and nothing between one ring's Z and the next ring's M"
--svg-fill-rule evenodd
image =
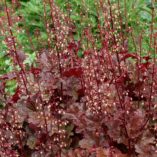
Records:
M156 37L150 31L150 51L142 55L142 35L130 52L133 30L122 27L120 10L98 7L97 39L90 26L74 40L75 25L53 2L46 22L48 48L34 65L16 44L11 10L5 1L3 20L8 55L15 70L1 76L1 157L156 157L157 64ZM45 18L48 15L45 13ZM103 20L100 18L103 18ZM103 24L101 22L103 21ZM51 24L52 27L49 27ZM133 37L134 39L134 37ZM52 45L51 45L52 44ZM82 56L78 57L78 52ZM6 81L16 80L12 96Z

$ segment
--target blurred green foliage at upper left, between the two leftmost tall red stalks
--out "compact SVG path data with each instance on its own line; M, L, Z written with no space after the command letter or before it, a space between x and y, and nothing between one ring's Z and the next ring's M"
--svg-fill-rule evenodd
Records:
M16 15L22 16L21 21L17 24L17 27L21 28L16 35L17 40L23 45L25 52L33 53L44 47L47 40L42 0L23 1L20 4L21 7L16 10Z

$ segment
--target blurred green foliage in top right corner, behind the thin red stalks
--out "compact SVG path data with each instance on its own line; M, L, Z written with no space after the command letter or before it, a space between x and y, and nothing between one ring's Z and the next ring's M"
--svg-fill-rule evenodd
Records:
M152 22L152 3L150 0L126 0L125 4L124 1L120 1L121 11L124 15L124 28L127 23L133 29L135 42L138 42L140 35L142 36L142 55L144 55L149 50L150 45L149 35ZM154 3L154 9L157 9L157 2ZM157 27L157 16L154 18L154 27ZM129 40L129 48L130 51L136 51L132 38Z

